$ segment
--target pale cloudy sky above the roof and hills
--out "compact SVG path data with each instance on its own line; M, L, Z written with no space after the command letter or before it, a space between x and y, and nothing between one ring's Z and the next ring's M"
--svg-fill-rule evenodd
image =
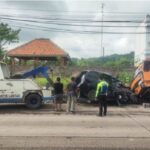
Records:
M136 35L131 33L148 13L148 0L0 1L0 21L13 29L21 28L19 42L7 45L7 50L33 39L49 38L77 58L100 57L102 49L105 56L134 51ZM102 15L104 21L138 23L102 23Z

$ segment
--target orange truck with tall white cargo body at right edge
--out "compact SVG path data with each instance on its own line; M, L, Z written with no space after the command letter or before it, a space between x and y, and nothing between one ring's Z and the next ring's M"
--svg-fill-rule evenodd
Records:
M134 64L136 67L130 88L136 96L150 102L150 16L137 29Z

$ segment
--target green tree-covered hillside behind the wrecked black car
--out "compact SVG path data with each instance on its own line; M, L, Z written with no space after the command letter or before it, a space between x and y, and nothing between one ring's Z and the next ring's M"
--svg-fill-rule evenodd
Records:
M111 68L111 69L123 69L133 67L134 64L134 53L131 52L125 55L110 55L106 57L100 58L72 58L72 66L78 67L104 67L104 68Z

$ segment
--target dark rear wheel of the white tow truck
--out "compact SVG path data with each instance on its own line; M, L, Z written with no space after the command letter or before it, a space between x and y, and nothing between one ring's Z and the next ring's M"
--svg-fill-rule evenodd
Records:
M42 99L38 94L30 94L25 99L26 106L30 109L37 109L42 104Z

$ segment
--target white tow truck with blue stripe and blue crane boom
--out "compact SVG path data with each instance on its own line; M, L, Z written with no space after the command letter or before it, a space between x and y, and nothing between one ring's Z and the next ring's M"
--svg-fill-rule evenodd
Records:
M42 103L53 100L52 86L41 88L32 78L27 78L41 72L48 77L47 70L41 69L33 69L25 72L22 78L14 78L10 76L7 64L0 62L0 103L25 104L30 109L37 109Z

